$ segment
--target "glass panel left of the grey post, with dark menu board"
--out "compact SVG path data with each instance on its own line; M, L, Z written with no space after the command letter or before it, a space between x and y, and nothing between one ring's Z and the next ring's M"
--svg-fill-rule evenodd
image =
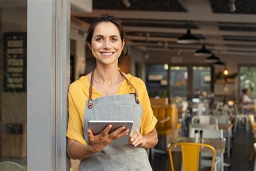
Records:
M0 161L27 165L27 2L0 3Z

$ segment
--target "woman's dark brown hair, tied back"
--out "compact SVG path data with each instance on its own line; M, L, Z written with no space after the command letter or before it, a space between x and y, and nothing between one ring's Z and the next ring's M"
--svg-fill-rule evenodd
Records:
M91 23L89 29L87 30L87 38L86 38L87 44L89 44L91 46L93 32L94 32L96 26L102 22L111 22L114 25L116 25L117 29L120 33L122 43L123 43L123 40L126 40L126 35L125 35L124 29L123 29L123 26L122 26L120 20L114 16L109 15L108 13L105 13ZM118 62L120 62L120 60L122 60L123 57L127 56L127 54L128 54L128 48L125 44L124 49L123 49L122 53L120 54L120 57L118 58Z

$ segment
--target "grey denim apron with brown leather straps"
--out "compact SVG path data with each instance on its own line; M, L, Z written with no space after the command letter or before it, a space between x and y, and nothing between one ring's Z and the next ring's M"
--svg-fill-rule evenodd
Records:
M91 76L91 86L93 83ZM121 72L120 72L121 73ZM121 73L124 79L130 81ZM86 102L84 114L84 139L87 141L87 121L89 120L132 120L133 131L140 131L142 121L142 106L138 95L110 95L91 99ZM152 170L144 148L132 145L108 145L102 152L95 153L80 162L80 171L84 170Z

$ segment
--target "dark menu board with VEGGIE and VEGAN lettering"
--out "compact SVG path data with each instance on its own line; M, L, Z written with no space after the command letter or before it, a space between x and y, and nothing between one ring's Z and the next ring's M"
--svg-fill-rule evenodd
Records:
M26 33L3 34L4 92L26 92Z

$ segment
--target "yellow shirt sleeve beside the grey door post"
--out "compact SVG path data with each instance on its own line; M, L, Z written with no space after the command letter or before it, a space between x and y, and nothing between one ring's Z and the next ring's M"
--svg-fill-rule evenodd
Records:
M83 138L83 126L80 119L78 108L75 102L75 92L72 90L72 86L69 87L68 99L69 99L69 122L66 136L71 140L78 141L86 145L86 141Z

